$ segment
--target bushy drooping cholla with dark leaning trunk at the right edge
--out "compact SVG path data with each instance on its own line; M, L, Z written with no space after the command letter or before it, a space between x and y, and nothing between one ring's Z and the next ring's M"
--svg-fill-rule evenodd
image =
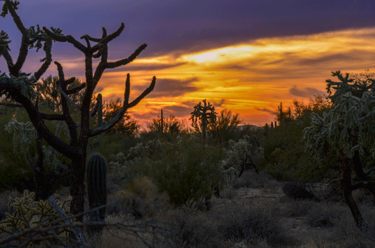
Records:
M337 161L340 165L343 176L340 188L355 223L362 229L366 223L352 191L367 188L375 198L374 178L368 176L374 169L375 79L369 74L343 77L341 72L333 72L332 75L339 79L327 80L333 107L323 117L313 114L312 126L304 130L304 138L307 150L314 157ZM353 171L360 180L354 185Z

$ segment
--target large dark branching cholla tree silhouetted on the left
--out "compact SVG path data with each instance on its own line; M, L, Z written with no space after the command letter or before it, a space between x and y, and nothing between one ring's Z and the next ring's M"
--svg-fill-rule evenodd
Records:
M125 27L124 23L122 23L120 28L112 34L107 34L106 29L103 27L101 38L93 38L87 34L83 35L80 38L85 41L86 44L84 45L70 35L63 35L62 30L53 27L51 27L50 30L46 27L40 29L39 26L37 26L37 28L30 27L27 29L20 20L19 15L16 13L19 2L13 0L0 1L4 1L1 16L6 17L6 15L10 13L15 25L22 34L20 52L14 63L13 58L9 53L9 43L11 41L8 40L8 34L4 31L0 32L0 56L5 58L9 72L8 75L6 75L5 72L0 74L0 96L6 94L7 98L14 100L18 105L22 105L27 111L30 121L40 136L42 136L42 138L55 150L71 159L72 164L69 167L70 195L72 196L70 211L72 214L82 213L84 210L84 172L89 138L107 131L119 122L129 107L134 107L141 99L153 90L156 79L153 77L151 85L132 102L129 102L130 77L129 74L127 74L125 82L125 99L120 112L118 112L109 122L106 122L106 124L96 127L95 129L90 129L89 120L96 115L98 109L98 101L94 109L90 109L94 89L106 69L113 69L132 62L132 60L134 60L136 56L146 48L146 44L143 44L136 49L129 58L124 58L115 62L108 62L108 43L121 34ZM84 72L86 82L80 86L68 88L68 86L75 81L75 78L72 77L70 79L65 79L62 65L55 62L58 70L58 89L61 94L61 107L63 113L50 115L39 111L36 104L37 101L35 100L39 93L35 90L35 86L40 77L42 77L42 74L46 72L51 64L51 47L53 41L68 42L84 54ZM94 45L91 45L91 43L94 43ZM43 48L46 57L41 60L43 63L37 72L34 72L34 74L26 74L22 72L21 69L25 63L29 49L33 47L36 47L37 50ZM95 70L93 68L93 58L100 59ZM70 95L80 91L83 91L83 100L80 105L77 105L72 102ZM68 105L68 103L70 103L70 105ZM80 123L77 123L72 119L69 106L80 110ZM69 129L69 143L65 143L54 135L44 124L44 120L59 120L65 122ZM82 221L82 218L78 218L78 220Z

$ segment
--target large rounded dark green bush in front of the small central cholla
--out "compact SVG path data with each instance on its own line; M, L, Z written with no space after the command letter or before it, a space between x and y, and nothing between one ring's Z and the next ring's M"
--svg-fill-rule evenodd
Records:
M203 146L193 138L164 143L157 161L148 160L147 167L158 188L167 192L175 206L192 206L210 196L220 185L221 148Z

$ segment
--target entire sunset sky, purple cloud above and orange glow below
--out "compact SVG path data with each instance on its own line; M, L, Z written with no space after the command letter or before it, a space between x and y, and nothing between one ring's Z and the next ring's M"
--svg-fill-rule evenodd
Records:
M108 44L108 60L148 46L132 63L106 70L95 92L123 98L129 73L132 100L155 75L155 89L128 111L141 124L161 109L189 119L207 99L217 112L238 113L243 124L264 125L281 102L324 96L333 71L375 71L373 0L20 0L18 15L26 27L59 27L77 40L101 37L101 27L115 32L124 22ZM15 60L21 36L11 15L0 18L0 30L12 40ZM72 44L54 43L52 56L65 77L84 80L84 55ZM41 58L42 51L31 51L23 71L37 70ZM4 58L0 70L7 72ZM50 74L57 76L53 64L44 77Z

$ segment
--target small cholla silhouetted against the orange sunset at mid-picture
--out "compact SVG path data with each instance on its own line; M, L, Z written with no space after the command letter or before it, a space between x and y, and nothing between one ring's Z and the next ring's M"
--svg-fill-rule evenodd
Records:
M205 136L206 136L206 129L207 125L209 123L215 124L216 122L216 112L215 112L215 107L210 105L210 102L208 102L208 105L206 103L206 100L203 100L204 105L201 105L201 102L199 102L197 105L194 106L194 111L191 112L191 121L192 124L196 124L198 119L201 120L202 124L202 138L203 141L205 141Z

